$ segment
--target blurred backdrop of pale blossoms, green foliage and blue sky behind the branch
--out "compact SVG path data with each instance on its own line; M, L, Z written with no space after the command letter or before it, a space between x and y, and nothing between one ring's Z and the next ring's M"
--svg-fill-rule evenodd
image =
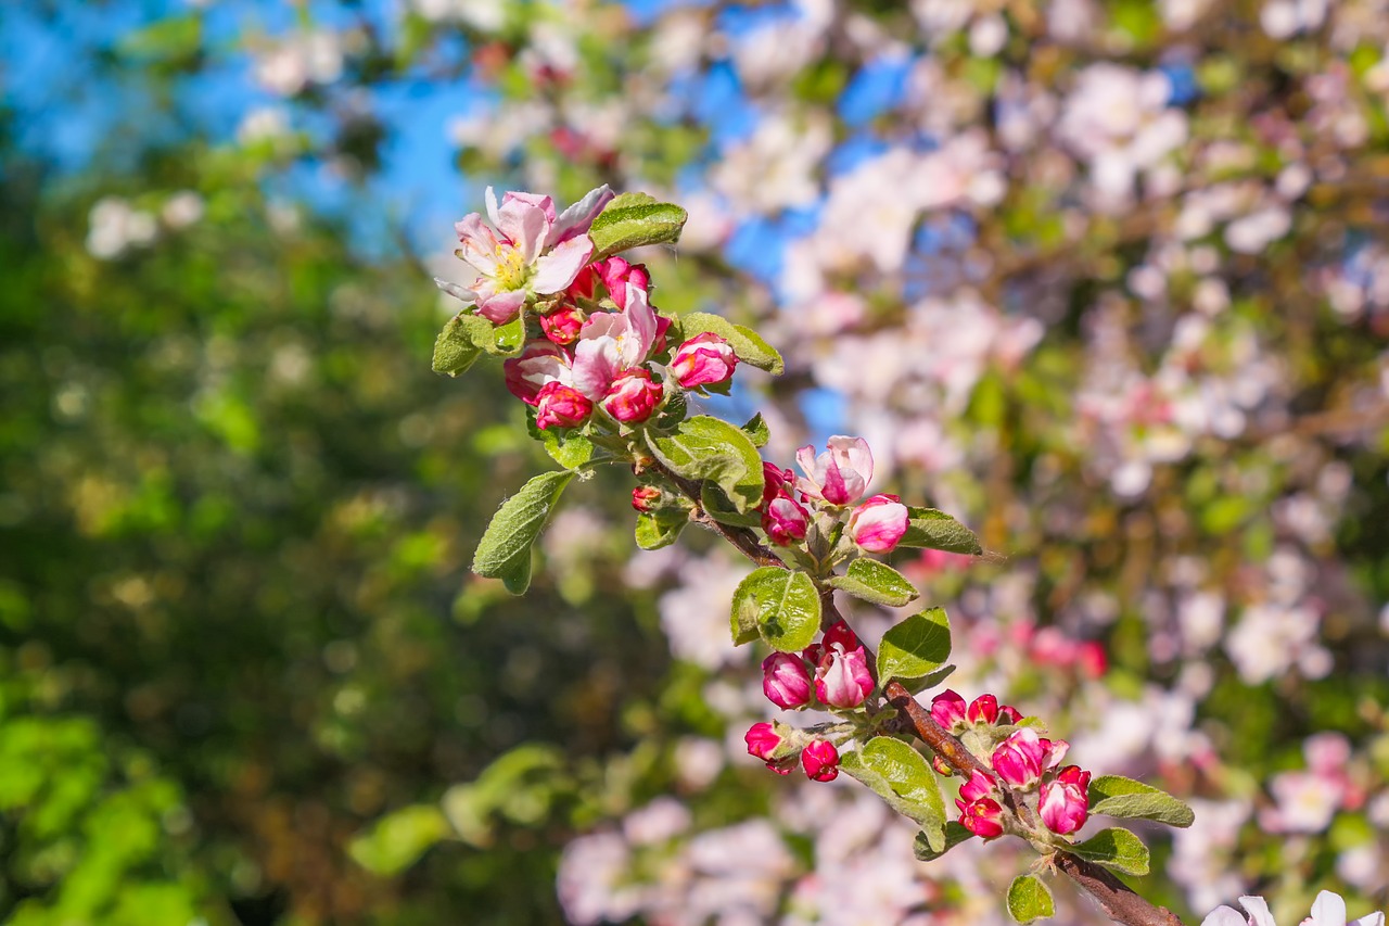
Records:
M893 558L950 684L1196 808L1143 894L1389 904L1383 0L24 0L0 82L6 922L1006 922L743 755L746 566L621 474L468 574L553 466L429 373L489 184L690 210L656 302L789 360L715 410L867 435L996 553Z

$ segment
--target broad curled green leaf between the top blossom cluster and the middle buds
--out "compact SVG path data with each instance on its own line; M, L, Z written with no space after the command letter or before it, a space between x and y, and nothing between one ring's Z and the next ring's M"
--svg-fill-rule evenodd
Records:
M715 482L738 513L746 514L761 503L763 457L751 439L728 421L697 414L682 421L675 434L656 437L647 431L647 444L671 471Z

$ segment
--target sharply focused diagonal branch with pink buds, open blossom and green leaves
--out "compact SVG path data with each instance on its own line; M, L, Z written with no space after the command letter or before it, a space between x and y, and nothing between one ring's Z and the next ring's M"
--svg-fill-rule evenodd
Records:
M1075 834L1092 813L1188 826L1192 812L1157 788L1061 765L1070 745L1039 734L983 694L954 691L926 709L915 694L951 670L950 623L928 608L890 628L876 653L835 608L833 594L900 608L918 596L895 569L872 558L899 546L978 556L978 538L954 517L871 495L874 456L863 438L832 437L824 452L796 453L801 476L761 459L770 434L761 417L735 425L690 416L688 396L726 393L740 363L772 374L782 359L754 331L717 316L665 316L651 302L644 266L621 252L674 241L685 211L644 195L599 188L557 213L549 196L488 192L486 224L457 225L458 256L478 277L439 281L465 309L440 332L435 370L457 375L481 355L506 357L507 388L529 406L532 435L564 469L544 473L507 499L483 534L474 570L521 594L531 545L579 473L614 463L638 478L636 542L657 549L690 523L726 539L757 569L733 594L733 644L761 640L763 691L778 708L815 708L829 720L804 729L754 724L749 752L815 781L840 770L860 780L921 833L917 856L939 858L979 837L1017 836L1093 894L1126 926L1179 926L1110 872L1146 875L1147 848L1126 829ZM914 733L931 763L896 734ZM933 770L932 770L933 769ZM947 820L942 776L963 779ZM1051 916L1036 875L1014 879L1008 909L1020 923Z

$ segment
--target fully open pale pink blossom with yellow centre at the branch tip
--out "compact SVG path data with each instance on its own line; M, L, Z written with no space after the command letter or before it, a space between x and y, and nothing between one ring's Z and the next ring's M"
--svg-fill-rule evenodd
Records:
M454 225L461 245L454 253L478 271L478 278L467 288L435 282L449 295L476 304L488 321L511 321L533 296L568 289L593 254L589 225L611 199L613 190L599 186L556 216L549 196L508 192L499 204L489 186L492 225L479 213Z

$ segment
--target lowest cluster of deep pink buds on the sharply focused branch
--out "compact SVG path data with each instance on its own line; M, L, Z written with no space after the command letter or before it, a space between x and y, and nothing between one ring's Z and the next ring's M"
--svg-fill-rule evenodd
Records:
M931 716L951 733L982 734L967 742L992 742L996 734L1006 734L992 751L979 751L993 774L975 770L960 787L956 806L961 826L971 833L986 840L1003 836L1001 787L1008 788L1014 799L1035 806L1042 823L1057 836L1070 836L1085 826L1090 809L1090 773L1075 765L1061 766L1071 748L1065 740L1046 740L1032 727L1018 726L1022 722L1018 710L999 705L990 694L965 706L964 698L947 688L932 699Z

